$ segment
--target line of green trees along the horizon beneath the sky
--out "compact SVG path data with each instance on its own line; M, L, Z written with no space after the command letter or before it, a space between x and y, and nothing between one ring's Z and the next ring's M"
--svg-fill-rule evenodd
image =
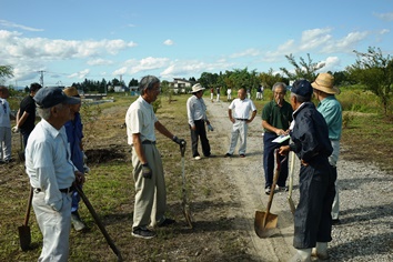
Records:
M356 61L346 67L344 71L330 72L334 75L335 84L340 85L352 85L361 84L364 90L369 90L374 93L381 101L384 114L387 114L390 105L392 103L392 83L393 83L393 59L390 54L384 54L381 49L369 47L366 52L360 52L354 50L356 54ZM199 82L205 88L220 88L222 92L226 89L238 90L240 88L249 89L250 91L255 90L260 85L264 88L272 88L275 82L284 82L289 84L291 81L298 79L306 79L313 81L318 71L323 71L324 63L314 62L311 59L310 53L306 58L296 58L292 54L285 56L289 63L293 67L291 69L280 68L281 73L274 72L270 69L268 72L256 72L256 70L244 69L233 69L225 70L220 73L203 72L200 78L190 78L191 82ZM12 78L13 70L11 66L0 66L0 83L1 80L6 78ZM128 85L124 81L120 81L114 78L110 81L102 79L101 81L88 80L83 82L73 83L83 92L111 92L113 90L108 90L109 87L137 87L137 79L131 79ZM163 81L163 85L168 87L169 82Z

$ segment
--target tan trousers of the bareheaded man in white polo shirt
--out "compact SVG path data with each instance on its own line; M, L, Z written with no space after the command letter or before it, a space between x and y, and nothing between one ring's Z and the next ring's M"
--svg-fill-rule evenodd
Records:
M165 219L167 210L167 189L160 152L154 144L142 144L142 147L153 175L151 179L143 178L142 164L132 148L131 159L135 182L133 229L161 223Z

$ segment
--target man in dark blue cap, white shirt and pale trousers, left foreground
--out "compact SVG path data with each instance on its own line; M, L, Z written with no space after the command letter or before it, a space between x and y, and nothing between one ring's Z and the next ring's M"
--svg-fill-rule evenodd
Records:
M43 235L39 261L68 261L72 184L84 178L71 161L64 123L78 104L60 88L41 88L34 95L41 121L29 135L26 171L33 188L32 206Z

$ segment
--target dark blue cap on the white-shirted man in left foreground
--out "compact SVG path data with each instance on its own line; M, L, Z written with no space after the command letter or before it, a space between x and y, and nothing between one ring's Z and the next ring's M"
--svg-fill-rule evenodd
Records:
M79 98L68 97L61 88L58 87L41 88L33 99L38 107L43 109L52 108L59 103L79 104L81 102Z

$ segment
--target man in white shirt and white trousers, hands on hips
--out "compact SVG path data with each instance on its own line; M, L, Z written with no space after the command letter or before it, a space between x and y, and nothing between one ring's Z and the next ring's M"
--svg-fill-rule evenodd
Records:
M238 143L238 139L240 137L240 145L239 145L239 155L241 158L245 157L246 150L246 133L249 129L249 123L254 120L256 115L256 108L252 100L245 98L246 93L245 90L239 89L238 98L234 99L228 109L228 115L231 120L232 131L231 131L231 144L228 150L228 153L224 157L232 157L234 149ZM250 112L251 119L250 119Z

